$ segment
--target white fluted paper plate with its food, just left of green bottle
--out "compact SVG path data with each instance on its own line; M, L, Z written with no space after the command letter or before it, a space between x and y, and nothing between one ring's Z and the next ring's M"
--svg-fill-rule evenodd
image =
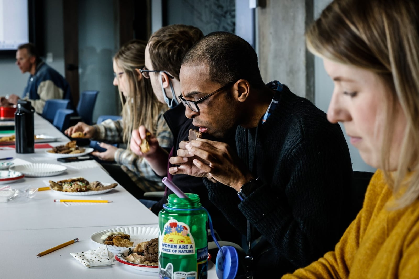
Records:
M158 225L141 227L117 227L109 230L101 230L93 233L90 239L101 245L107 245L108 249L125 251L127 248L134 249L137 244L158 238Z

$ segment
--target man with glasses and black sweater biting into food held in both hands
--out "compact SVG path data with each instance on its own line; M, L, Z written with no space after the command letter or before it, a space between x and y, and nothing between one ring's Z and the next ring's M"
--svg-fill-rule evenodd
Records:
M236 147L181 142L169 172L204 178L211 202L246 235L247 275L279 277L332 249L355 217L339 125L286 85L265 85L256 52L231 33L195 44L180 81L186 116L205 134L235 131Z

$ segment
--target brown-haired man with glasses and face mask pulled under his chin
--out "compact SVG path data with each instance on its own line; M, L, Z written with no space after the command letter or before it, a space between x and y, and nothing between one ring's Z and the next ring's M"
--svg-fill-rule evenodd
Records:
M171 154L176 154L179 143L188 140L189 129L199 129L195 127L191 119L185 116L185 107L180 103L179 72L182 60L186 52L204 35L202 31L194 26L183 24L173 24L164 26L151 35L145 49L145 67L137 69L145 78L150 78L153 91L158 100L166 103L171 109L166 111L164 118L173 133L174 149ZM198 194L201 204L210 212L213 217L213 225L217 234L222 240L240 242L241 237L238 231L230 225L222 213L209 201L208 191L204 186L202 178L189 175L172 177L168 173L169 154L158 145L154 135L140 126L134 129L130 141L132 152L143 156L155 173L160 176L168 176L176 186L186 193ZM215 140L214 137L206 135L207 138ZM140 145L142 140L147 138L150 150L142 152ZM231 137L234 142L234 138ZM151 209L156 215L163 209L163 204L167 202L167 197L173 192L166 189L165 196L158 202L140 200Z

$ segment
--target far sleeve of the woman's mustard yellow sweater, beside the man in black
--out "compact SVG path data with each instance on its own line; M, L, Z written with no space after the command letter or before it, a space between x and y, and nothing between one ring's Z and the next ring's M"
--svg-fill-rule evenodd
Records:
M293 274L285 274L282 279L347 278L377 199L383 190L382 179L382 173L378 170L370 181L361 211L336 244L335 251L327 252L318 261L297 269Z

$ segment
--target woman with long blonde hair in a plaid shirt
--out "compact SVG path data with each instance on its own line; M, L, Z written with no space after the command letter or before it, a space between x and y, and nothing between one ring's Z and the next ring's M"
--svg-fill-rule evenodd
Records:
M103 161L115 161L115 165L103 164L111 176L138 199L144 192L163 190L161 177L157 176L147 161L131 152L129 140L133 128L144 125L152 131L159 145L171 149L173 136L163 118L167 106L160 103L153 93L150 80L143 78L138 71L144 66L146 42L131 40L121 46L113 58L114 81L121 98L122 119L108 119L100 124L89 126L79 122L68 128L65 134L83 132L85 138L120 143L126 148L117 148L101 143L106 151L92 154Z

